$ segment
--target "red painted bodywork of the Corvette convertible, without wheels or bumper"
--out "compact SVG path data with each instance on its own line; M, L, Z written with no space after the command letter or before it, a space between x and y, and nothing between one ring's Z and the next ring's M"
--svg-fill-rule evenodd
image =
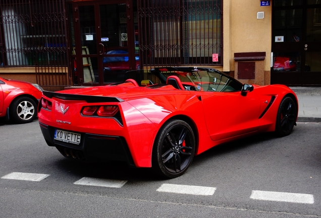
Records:
M190 122L196 138L197 155L224 142L258 132L275 131L282 98L291 95L297 104L295 93L283 85L254 86L254 90L246 96L242 96L241 91L178 90L171 85L148 88L136 87L131 83L71 89L59 93L113 97L119 101L65 100L64 97L55 97L55 94L51 94L51 97L44 94L42 98L52 102L52 109L46 110L39 104L40 127L123 137L135 167L151 167L152 147L157 132L172 118ZM272 97L274 100L268 110L264 111ZM81 114L84 106L93 105L118 105L123 124L111 118L86 117ZM62 113L66 108L68 111ZM43 134L45 136L47 133ZM47 137L51 137L47 139L52 139L52 143L55 141L53 135ZM50 143L48 145L53 146Z

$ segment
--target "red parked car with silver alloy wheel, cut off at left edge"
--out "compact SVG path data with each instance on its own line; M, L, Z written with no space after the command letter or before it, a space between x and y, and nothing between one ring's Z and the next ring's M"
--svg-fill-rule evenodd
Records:
M20 124L32 122L42 90L38 84L0 77L0 117Z

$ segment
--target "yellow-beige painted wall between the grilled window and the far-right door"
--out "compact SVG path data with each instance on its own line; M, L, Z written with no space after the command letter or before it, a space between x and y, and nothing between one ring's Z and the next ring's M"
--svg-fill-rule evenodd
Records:
M264 19L257 19L264 12ZM234 53L266 52L264 71L271 71L272 1L260 7L259 0L223 1L223 71L234 71Z

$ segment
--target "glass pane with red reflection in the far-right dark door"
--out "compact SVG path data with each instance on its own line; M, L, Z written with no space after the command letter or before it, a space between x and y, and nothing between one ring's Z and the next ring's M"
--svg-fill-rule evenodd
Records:
M300 71L301 54L299 52L275 52L274 71Z

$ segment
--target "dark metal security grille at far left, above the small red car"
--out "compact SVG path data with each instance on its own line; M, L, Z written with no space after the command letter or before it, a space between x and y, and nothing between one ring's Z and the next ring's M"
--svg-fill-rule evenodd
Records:
M64 5L64 0L0 1L2 65L34 66L40 85L67 85Z

